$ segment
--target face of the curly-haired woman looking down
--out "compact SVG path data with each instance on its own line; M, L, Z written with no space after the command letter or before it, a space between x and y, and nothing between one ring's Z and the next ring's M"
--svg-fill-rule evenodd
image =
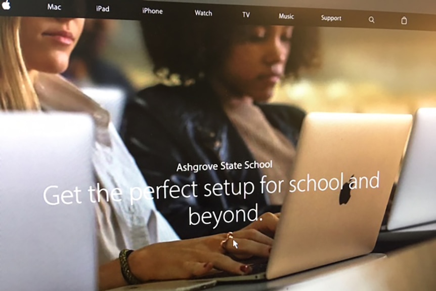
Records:
M252 26L241 34L233 41L219 78L231 94L267 101L284 76L292 27Z

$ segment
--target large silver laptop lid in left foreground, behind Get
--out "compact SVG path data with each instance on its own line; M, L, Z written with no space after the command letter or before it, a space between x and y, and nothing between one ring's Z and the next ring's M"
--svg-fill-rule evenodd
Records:
M93 124L82 114L0 113L2 290L96 290Z

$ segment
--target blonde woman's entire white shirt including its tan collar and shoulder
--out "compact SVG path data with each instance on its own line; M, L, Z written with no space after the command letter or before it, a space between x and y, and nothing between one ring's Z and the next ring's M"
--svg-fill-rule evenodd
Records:
M93 164L100 189L110 193L118 188L123 193L116 196L121 201L106 201L102 192L100 202L95 203L99 264L118 258L123 248L136 250L156 242L178 240L176 232L156 210L135 160L109 122L109 113L59 75L39 73L34 87L46 110L88 112L94 117ZM130 189L135 187L142 189L143 198L130 203Z

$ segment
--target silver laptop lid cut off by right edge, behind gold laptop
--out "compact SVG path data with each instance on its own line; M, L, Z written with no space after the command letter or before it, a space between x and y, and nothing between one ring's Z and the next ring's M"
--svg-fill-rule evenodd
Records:
M394 230L436 221L436 108L420 108L387 221ZM434 228L436 229L436 228Z

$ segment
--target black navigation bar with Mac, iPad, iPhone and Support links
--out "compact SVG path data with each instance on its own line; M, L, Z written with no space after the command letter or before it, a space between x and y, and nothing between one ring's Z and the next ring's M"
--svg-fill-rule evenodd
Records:
M5 1L5 0L0 0ZM0 16L86 17L183 23L215 21L436 31L436 15L318 8L217 5L145 0L7 0Z

